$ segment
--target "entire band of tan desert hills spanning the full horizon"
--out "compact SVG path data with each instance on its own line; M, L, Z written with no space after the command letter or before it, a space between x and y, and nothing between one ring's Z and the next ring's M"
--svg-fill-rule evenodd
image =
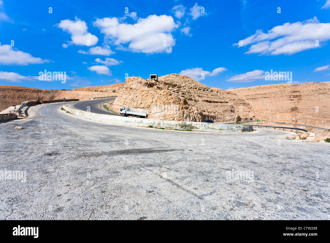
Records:
M226 122L240 115L243 119L330 127L330 82L223 90L179 74L161 76L158 81L129 77L125 83L72 90L2 85L0 111L26 100L87 100L113 95L118 95L112 104L114 111L119 112L122 106L139 107L149 109L149 118L154 119Z

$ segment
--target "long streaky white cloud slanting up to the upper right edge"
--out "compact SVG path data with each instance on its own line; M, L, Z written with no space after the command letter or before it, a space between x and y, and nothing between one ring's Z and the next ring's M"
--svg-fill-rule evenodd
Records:
M330 39L330 23L320 23L314 17L303 22L284 23L264 33L257 30L234 46L251 45L246 54L291 55L308 49L317 48L321 42ZM317 45L318 44L318 45Z

